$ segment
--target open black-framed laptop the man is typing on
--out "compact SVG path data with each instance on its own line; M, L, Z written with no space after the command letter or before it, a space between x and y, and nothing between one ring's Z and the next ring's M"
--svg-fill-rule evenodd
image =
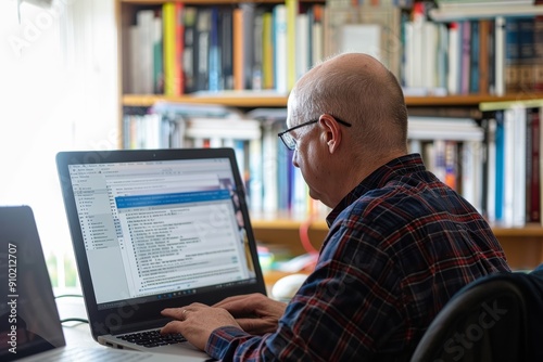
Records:
M128 335L164 326L164 308L266 294L232 148L61 152L56 165L98 342L149 350Z

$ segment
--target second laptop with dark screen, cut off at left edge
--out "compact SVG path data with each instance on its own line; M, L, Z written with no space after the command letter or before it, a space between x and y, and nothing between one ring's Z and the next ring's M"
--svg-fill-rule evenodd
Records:
M0 361L203 361L66 346L46 259L28 206L0 207ZM89 336L90 338L90 336Z

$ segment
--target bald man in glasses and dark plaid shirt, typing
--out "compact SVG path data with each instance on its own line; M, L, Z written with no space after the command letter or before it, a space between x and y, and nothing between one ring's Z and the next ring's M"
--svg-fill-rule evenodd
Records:
M227 361L405 361L455 292L509 271L479 212L408 155L402 90L375 59L315 66L287 124L310 195L332 208L315 271L288 305L250 295L167 309L163 333Z

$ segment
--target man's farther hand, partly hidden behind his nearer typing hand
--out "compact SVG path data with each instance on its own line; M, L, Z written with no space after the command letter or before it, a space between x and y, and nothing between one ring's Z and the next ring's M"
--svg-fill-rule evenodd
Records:
M213 307L224 308L236 318L243 331L254 335L273 333L285 313L287 303L267 298L262 294L229 297Z

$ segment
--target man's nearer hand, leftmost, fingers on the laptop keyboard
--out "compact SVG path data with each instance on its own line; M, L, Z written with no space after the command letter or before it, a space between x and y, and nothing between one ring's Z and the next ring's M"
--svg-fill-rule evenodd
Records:
M161 329L161 333L180 333L188 341L201 350L204 350L214 329L226 325L240 328L233 316L224 308L214 308L202 303L166 308L161 313L164 316L174 319Z

